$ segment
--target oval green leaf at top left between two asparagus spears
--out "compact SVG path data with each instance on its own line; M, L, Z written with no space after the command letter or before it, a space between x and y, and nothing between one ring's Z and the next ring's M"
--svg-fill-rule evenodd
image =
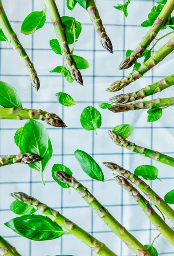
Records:
M41 29L46 21L46 9L41 12L30 13L25 20L23 20L20 32L25 35L30 35L36 30Z

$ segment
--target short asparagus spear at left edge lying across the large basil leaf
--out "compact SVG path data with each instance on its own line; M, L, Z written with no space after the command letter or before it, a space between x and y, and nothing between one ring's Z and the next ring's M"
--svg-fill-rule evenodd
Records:
M13 163L35 163L41 160L44 160L44 158L32 153L8 155L7 157L0 157L0 167Z

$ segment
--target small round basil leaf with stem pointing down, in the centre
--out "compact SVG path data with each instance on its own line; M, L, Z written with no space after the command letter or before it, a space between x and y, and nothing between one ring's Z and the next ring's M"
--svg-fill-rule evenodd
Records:
M87 107L81 112L80 122L82 127L87 130L95 130L102 125L101 113L94 107ZM97 135L97 132L96 132Z

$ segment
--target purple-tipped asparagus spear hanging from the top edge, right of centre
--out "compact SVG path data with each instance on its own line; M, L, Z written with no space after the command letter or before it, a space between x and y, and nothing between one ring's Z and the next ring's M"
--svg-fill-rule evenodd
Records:
M96 7L96 3L94 2L94 0L87 1L87 12L90 15L90 20L92 21L94 29L96 30L99 36L99 40L102 44L102 47L104 47L104 49L106 49L108 52L113 53L112 43L106 34L102 20L99 15L99 11Z

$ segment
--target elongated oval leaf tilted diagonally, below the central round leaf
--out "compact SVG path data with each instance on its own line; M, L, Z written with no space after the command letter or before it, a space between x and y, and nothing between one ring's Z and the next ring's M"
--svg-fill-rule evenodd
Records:
M77 149L74 152L75 158L78 160L78 163L80 164L83 171L90 176L92 179L95 180L104 180L104 175L102 172L102 169L96 163L96 161L86 152Z

